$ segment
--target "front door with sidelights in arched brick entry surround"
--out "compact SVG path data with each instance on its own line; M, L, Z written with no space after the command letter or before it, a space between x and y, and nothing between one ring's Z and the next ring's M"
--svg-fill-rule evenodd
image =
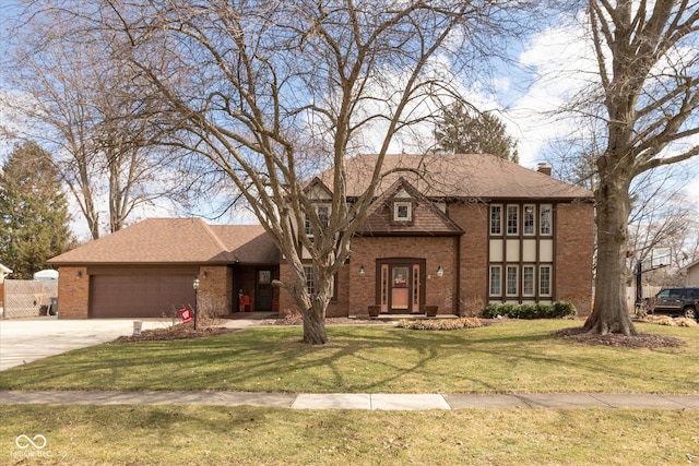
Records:
M422 312L425 260L394 259L379 264L381 312Z

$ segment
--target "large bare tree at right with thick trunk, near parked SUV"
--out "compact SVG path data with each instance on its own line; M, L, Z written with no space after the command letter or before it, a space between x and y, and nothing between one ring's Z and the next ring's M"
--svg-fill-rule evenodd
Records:
M591 333L637 334L625 302L629 190L641 174L699 154L699 3L590 0L606 147L596 157Z

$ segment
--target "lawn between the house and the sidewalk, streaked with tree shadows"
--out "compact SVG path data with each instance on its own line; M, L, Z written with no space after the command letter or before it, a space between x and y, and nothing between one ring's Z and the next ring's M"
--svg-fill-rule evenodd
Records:
M550 336L580 321L514 321L450 332L258 327L175 342L105 344L0 372L12 390L228 390L291 393L697 393L699 330L639 324L680 348L588 346Z

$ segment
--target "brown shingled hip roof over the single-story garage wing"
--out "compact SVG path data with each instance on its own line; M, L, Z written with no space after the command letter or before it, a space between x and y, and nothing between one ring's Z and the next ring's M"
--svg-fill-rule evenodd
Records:
M261 225L208 225L199 218L150 218L48 261L69 264L277 263Z

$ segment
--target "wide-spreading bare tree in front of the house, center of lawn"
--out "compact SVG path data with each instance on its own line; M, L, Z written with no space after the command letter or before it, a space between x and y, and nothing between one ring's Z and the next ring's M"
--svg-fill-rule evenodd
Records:
M110 49L149 82L142 95L166 107L152 118L171 131L168 144L213 164L242 193L291 267L293 280L280 286L301 311L304 340L324 344L333 276L351 254L393 138L426 118L415 111L420 103L453 95L446 67L458 72L477 55L472 44L502 27L502 8L513 5L103 0L93 17L115 34ZM366 192L348 200L346 157L367 148L378 163ZM306 187L330 167L327 217Z

